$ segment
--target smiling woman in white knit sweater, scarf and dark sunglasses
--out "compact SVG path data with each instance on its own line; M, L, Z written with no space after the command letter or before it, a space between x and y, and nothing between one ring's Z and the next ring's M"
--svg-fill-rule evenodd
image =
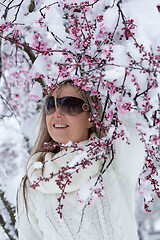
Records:
M20 240L138 239L134 194L143 144L134 124L122 116L130 145L117 139L115 152L107 153L105 146L102 153L103 148L95 147L102 137L92 119L97 110L101 118L98 98L71 80L46 98L40 133L18 193ZM54 144L53 149L46 150L45 142Z

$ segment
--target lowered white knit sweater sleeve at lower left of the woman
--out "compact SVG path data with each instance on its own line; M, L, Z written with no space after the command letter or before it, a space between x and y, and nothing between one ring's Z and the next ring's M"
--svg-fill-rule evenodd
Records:
M23 196L24 181L18 190L18 203L17 203L17 217L18 217L18 235L19 240L40 240L43 239L42 232L39 229L38 221L35 216L35 206L32 201L33 189L29 187L28 181L26 181L26 204Z

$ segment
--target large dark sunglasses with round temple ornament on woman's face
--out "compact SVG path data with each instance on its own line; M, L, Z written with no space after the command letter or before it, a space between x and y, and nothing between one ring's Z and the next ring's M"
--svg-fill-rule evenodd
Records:
M59 103L61 106L63 113L67 115L75 116L81 112L89 111L89 105L80 98L66 96L55 99L55 97L49 96L45 102L45 113L47 115L53 113L56 110L55 100L56 103Z

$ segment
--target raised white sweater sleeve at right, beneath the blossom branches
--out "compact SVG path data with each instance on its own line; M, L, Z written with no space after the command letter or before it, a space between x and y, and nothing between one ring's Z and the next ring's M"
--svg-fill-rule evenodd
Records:
M130 145L122 139L115 141L115 167L132 182L138 179L145 159L144 143L140 140L139 132L136 129L136 122L141 120L137 113L120 115L122 123L129 134Z

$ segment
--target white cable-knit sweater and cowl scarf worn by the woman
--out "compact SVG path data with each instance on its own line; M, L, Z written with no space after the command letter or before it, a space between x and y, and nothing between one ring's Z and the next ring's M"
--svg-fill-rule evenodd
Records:
M22 186L18 200L18 229L20 240L137 240L134 217L134 195L138 175L144 160L144 146L134 127L128 127L131 144L122 140L115 142L115 159L103 174L104 196L84 209L84 202L77 201L81 186L98 174L100 162L95 161L87 169L74 173L72 183L66 188L63 200L63 217L56 208L60 189L55 178L41 182L36 189L30 187L42 176L41 169L35 169L40 153L35 154L28 164L27 209ZM86 143L86 142L84 142ZM62 150L55 156L47 153L43 176L57 172L61 166L72 161L76 152ZM59 158L60 157L60 158ZM55 161L49 161L56 159ZM81 223L81 216L83 221ZM81 228L79 229L79 226Z

